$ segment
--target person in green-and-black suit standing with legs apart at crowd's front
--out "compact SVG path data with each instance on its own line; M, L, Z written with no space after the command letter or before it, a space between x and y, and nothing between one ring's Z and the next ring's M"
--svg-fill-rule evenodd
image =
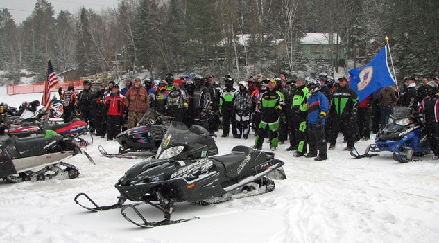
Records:
M261 150L264 138L268 135L270 138L270 149L277 150L279 114L282 109L285 109L285 98L277 90L276 80L269 80L268 84L263 84L263 86L266 86L266 91L262 93L261 99L257 104L261 111L261 122L259 123L258 134L255 139L255 148Z

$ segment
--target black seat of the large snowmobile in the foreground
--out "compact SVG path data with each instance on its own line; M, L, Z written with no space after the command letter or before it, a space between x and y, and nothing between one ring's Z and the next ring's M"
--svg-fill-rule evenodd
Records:
M244 166L242 165L243 161L246 160L247 163L250 161L249 154L251 154L252 151L251 147L236 146L230 154L212 156L210 158L215 159L224 165L225 175L227 175L227 177L237 177L239 172L241 172L239 167Z

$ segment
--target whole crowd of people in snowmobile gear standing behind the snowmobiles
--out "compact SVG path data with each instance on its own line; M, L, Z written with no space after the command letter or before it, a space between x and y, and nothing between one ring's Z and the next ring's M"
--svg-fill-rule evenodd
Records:
M345 77L334 78L322 72L315 78L275 78L258 74L235 85L230 75L224 87L213 75L186 75L174 78L171 73L163 80L127 78L125 87L110 81L98 91L84 80L83 90L76 94L73 83L60 90L64 105L64 122L75 110L96 135L112 140L123 129L135 127L147 109L191 125L201 125L212 136L220 129L221 137L231 135L248 139L255 133L256 149L262 149L265 138L271 150L279 143L289 143L286 150L294 156L327 159L327 150L334 150L338 134L343 134L350 151L354 143L369 140L386 125L393 107L405 106L415 114L424 114L433 159L439 156L439 76L429 81L404 78L402 89L385 87L359 102ZM222 119L220 119L222 118ZM329 147L327 147L329 144Z

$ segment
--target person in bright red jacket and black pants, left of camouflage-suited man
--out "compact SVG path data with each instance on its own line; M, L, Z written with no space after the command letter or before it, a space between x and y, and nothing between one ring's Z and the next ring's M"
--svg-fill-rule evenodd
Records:
M119 93L119 85L114 84L112 92L105 97L104 104L107 111L107 140L113 140L114 136L121 132L123 96Z

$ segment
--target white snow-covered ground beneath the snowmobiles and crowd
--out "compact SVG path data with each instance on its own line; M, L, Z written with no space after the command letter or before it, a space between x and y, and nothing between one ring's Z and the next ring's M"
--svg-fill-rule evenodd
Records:
M0 87L0 102L15 107L42 96L5 93ZM226 154L235 145L252 145L254 138L218 137L216 143ZM141 160L103 157L98 145L108 152L117 152L118 145L95 137L87 152L96 165L83 154L66 161L79 168L78 179L0 182L0 242L439 242L439 162L429 154L396 163L388 152L352 159L341 140L321 162L297 159L286 144L279 145L276 157L285 162L288 179L276 181L275 191L210 206L177 204L173 219L200 219L140 229L120 210L90 213L74 203L79 192L98 204L115 203L114 183ZM363 151L371 142L356 147ZM161 218L152 206L139 210Z

